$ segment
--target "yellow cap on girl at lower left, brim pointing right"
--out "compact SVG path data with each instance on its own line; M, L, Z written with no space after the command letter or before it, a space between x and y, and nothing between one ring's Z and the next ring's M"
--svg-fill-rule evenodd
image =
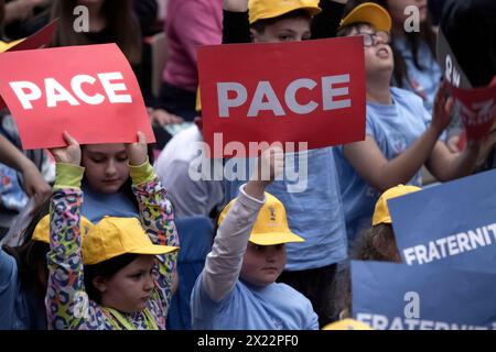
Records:
M137 218L105 217L83 241L83 264L98 264L126 253L157 255L177 250L153 244Z

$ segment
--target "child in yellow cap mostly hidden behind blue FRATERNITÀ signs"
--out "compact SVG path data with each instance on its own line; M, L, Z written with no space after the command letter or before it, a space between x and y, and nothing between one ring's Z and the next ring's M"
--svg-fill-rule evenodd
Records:
M419 187L403 185L386 190L377 200L371 228L364 231L355 242L351 257L357 261L401 263L387 201L419 190L421 190ZM336 290L334 301L336 315L339 319L348 318L352 311L349 266L337 276Z

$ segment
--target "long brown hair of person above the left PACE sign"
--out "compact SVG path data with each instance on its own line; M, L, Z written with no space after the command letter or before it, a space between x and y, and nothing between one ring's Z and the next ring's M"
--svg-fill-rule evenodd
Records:
M54 0L52 19L60 18L53 46L71 46L89 44L84 33L76 33L73 28L73 10L77 0ZM141 31L134 15L131 0L106 0L101 11L107 22L107 30L116 44L132 65L141 63ZM101 43L103 44L103 43Z

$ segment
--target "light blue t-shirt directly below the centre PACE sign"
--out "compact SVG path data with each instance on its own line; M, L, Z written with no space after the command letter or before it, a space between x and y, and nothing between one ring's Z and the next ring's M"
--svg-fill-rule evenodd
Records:
M251 170L255 160L250 162ZM235 168L229 163L235 161L227 161L225 168ZM249 176L247 170L242 180L225 182L226 202L238 195ZM305 239L287 244L287 271L324 267L346 258L346 229L332 147L288 153L284 180L273 182L267 191L284 205L291 231Z

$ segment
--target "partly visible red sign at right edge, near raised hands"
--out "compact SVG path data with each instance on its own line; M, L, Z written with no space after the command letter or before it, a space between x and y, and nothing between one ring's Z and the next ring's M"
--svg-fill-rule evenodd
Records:
M467 140L484 138L496 119L496 85L462 89L451 86L455 111L462 118Z

